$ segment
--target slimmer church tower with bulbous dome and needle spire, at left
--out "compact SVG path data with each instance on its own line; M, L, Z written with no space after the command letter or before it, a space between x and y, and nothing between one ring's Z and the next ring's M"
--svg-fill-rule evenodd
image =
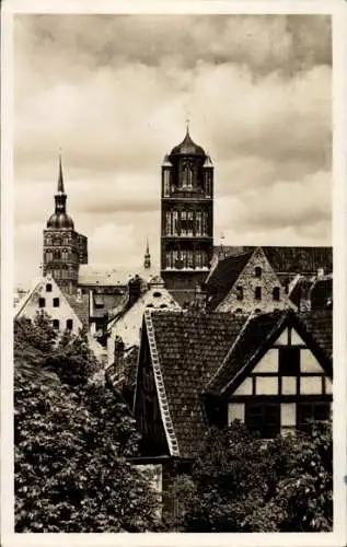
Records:
M44 230L43 274L50 274L63 292L73 294L77 291L80 264L88 264L88 240L85 235L74 231L73 221L67 214L67 195L59 156L55 212Z

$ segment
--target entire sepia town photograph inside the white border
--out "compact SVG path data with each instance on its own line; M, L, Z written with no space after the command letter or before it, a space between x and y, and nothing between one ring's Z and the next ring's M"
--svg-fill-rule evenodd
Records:
M336 529L333 44L13 14L16 537Z

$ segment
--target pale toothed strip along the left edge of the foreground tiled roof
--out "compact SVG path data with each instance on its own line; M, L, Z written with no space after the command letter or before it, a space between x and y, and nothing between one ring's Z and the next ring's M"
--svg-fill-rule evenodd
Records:
M155 382L159 408L160 408L160 414L162 417L162 421L163 421L163 426L164 426L164 430L165 430L165 434L166 434L169 450L170 450L170 453L172 456L180 456L177 438L175 434L173 421L171 419L165 384L164 384L161 368L160 368L160 361L159 361L158 349L157 349L155 337L154 337L154 326L152 323L151 312L149 310L146 310L146 312L144 312L144 323L146 323L146 327L147 327L147 337L148 337L148 342L149 342L149 348L150 348L150 353L151 353L151 361L152 361L152 369L153 369L153 376L154 376L154 382Z

